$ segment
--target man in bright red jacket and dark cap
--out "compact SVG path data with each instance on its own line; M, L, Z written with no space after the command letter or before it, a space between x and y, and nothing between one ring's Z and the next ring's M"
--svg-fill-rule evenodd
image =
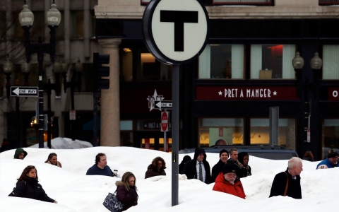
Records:
M224 165L222 172L215 179L213 191L225 192L245 199L244 187L242 187L242 182L237 177L235 165L230 163Z

